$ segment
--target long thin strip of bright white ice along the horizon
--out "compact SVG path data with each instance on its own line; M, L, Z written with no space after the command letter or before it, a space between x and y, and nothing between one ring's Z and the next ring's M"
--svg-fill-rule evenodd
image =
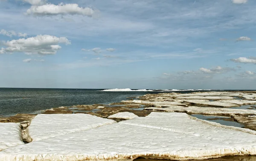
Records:
M108 91L108 92L131 92L131 91L137 91L137 92L178 92L178 91L211 91L212 89L104 89L102 91Z

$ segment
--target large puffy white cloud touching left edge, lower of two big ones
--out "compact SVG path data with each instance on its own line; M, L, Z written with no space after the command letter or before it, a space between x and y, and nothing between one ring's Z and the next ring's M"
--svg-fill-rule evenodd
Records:
M0 49L0 54L23 52L26 54L54 55L61 49L59 43L71 44L66 37L51 35L37 35L36 37L22 38L18 40L3 41L6 48Z

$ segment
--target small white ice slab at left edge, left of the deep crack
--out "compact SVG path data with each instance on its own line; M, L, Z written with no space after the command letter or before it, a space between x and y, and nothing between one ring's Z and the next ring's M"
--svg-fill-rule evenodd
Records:
M0 123L0 151L20 144L24 144L20 124Z

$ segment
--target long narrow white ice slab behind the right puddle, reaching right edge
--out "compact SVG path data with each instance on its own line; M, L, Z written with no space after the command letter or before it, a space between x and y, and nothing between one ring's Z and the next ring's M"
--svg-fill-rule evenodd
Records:
M255 110L250 109L228 109L228 108L212 108L212 107L198 107L198 106L170 106L166 108L162 107L148 107L145 110L150 111L162 111L162 112L187 112L191 114L201 115L256 115Z

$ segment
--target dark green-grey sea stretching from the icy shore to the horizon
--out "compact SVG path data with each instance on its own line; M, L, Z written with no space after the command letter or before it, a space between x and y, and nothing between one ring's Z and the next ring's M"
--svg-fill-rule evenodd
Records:
M78 104L106 104L127 100L148 93L181 92L198 90L187 89L28 89L0 88L0 117L17 113L39 113L52 107L73 106ZM199 91L205 91L199 89ZM207 90L209 91L209 90Z

